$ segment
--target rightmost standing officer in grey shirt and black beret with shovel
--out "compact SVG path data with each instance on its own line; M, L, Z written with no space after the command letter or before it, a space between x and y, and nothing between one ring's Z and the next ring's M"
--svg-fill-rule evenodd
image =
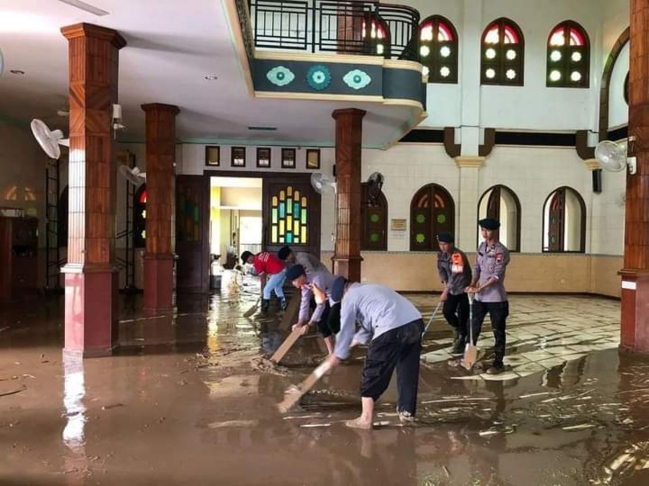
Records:
M484 241L478 246L476 264L473 267L471 286L467 292L476 294L473 303L473 343L478 342L482 321L489 312L491 329L496 341L493 366L487 369L489 375L504 371L505 321L509 315L509 302L505 292L505 269L509 263L509 250L498 241L500 222L493 218L478 221Z

